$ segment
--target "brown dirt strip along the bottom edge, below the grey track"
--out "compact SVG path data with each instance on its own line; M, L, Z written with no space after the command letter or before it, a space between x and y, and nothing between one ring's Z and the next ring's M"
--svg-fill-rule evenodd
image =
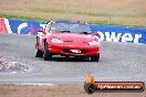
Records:
M62 84L53 86L0 85L0 97L146 97L144 93L94 93L88 95L83 85Z

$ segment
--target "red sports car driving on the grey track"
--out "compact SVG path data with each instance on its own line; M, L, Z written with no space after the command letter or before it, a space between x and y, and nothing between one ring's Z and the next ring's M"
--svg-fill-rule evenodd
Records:
M35 57L51 61L53 55L91 57L98 62L101 42L85 22L52 20L39 29Z

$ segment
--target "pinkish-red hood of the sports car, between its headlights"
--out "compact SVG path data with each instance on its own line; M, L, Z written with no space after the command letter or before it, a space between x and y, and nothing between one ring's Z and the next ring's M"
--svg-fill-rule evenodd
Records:
M53 33L52 37L66 42L88 42L95 40L94 35L80 33Z

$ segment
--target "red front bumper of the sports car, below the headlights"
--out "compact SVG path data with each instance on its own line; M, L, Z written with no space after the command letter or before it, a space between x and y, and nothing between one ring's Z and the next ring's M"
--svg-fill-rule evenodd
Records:
M79 50L81 52L73 53L71 50ZM65 56L93 56L100 54L100 46L90 46L85 43L49 44L49 51L52 54Z

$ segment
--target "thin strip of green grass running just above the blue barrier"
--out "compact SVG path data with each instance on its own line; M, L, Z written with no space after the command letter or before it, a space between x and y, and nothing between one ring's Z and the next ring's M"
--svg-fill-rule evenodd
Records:
M0 18L7 18L7 19L19 19L19 20L31 20L31 21L43 21L48 22L50 19L42 19L42 18L33 18L33 17L22 17L22 15L12 15L12 14L0 14ZM135 26L135 28L146 28L142 25L136 24L121 24L121 23L111 23L108 24L108 21L88 21L90 24L101 24L101 25L119 25L119 26Z

